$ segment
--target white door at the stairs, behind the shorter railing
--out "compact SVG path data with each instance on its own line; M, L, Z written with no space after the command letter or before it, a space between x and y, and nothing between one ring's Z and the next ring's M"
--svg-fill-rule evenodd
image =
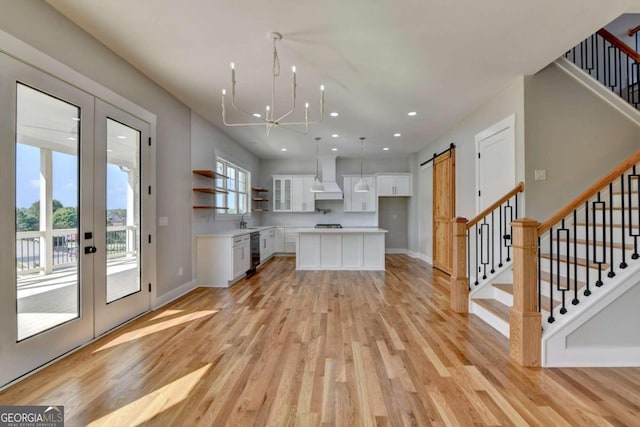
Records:
M514 125L512 115L476 135L477 213L516 185Z

